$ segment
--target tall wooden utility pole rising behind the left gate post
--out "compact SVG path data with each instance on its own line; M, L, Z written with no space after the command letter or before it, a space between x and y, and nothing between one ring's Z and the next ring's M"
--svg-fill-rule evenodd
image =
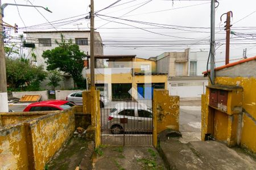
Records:
M94 2L90 0L90 87L95 87L94 82Z

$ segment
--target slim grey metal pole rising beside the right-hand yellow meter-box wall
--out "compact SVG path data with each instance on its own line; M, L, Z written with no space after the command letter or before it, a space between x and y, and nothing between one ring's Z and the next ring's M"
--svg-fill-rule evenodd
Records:
M215 54L215 1L212 0L210 6L210 79L214 84L215 70L214 70L214 54Z

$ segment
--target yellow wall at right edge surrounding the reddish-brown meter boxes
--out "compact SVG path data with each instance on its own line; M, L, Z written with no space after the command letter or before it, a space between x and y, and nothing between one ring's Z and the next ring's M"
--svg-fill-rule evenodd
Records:
M223 72L224 70L222 70ZM222 73L221 73L222 74ZM218 71L217 71L217 75ZM256 79L254 77L226 77L221 76L216 78L216 84L241 86L243 88L243 95L239 92L236 93L237 97L233 97L230 100L229 105L241 105L241 114L232 114L228 118L220 118L218 116L214 117L217 120L213 120L212 109L208 107L209 104L209 89L205 95L202 95L202 126L201 126L201 139L205 140L205 134L217 134L216 137L220 141L223 134L226 136L226 142L228 145L241 145L253 152L256 152ZM234 94L232 94L234 96ZM232 107L230 107L232 108ZM229 112L234 112L229 111ZM214 127L213 127L214 125ZM222 126L222 128L220 128ZM217 128L216 128L217 127ZM214 130L214 131L213 131ZM221 134L221 135L218 135Z

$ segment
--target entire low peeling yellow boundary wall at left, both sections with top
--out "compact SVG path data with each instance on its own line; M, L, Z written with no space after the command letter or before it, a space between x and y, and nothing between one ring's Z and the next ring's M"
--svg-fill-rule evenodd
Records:
M22 113L16 116L1 113L3 122L10 124L11 121L6 121L8 117L20 123L6 123L6 127L0 128L0 169L44 169L49 159L75 131L76 112L82 112L82 107L48 114L42 112L46 115L35 118L35 115L26 115L32 119L16 118Z

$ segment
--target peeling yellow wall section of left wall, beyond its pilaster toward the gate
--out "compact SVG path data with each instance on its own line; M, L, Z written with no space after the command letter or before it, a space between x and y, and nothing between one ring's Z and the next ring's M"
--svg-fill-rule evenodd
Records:
M35 169L44 165L75 131L73 109L42 116L30 122Z

